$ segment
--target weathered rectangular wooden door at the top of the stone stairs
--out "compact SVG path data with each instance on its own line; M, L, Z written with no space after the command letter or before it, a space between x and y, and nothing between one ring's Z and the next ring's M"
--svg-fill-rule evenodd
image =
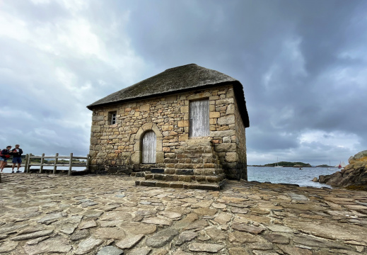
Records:
M190 101L190 136L209 135L209 100Z

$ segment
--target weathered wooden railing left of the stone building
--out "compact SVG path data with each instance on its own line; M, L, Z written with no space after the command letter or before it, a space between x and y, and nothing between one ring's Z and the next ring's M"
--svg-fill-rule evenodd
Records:
M32 162L32 159L40 159L40 162ZM54 162L49 163L45 161L45 159L54 159ZM58 162L59 159L69 159L69 162ZM73 159L86 159L86 162L76 163L73 162ZM69 166L68 174L71 175L71 169L73 166L86 166L88 169L89 166L89 154L87 157L75 157L71 153L70 156L59 156L59 153L55 154L54 156L45 156L45 153L42 156L30 156L29 154L25 155L25 164L24 164L24 171L29 173L30 166L40 166L40 174L42 174L44 166L53 166L54 170L52 171L53 174L56 174L57 166Z

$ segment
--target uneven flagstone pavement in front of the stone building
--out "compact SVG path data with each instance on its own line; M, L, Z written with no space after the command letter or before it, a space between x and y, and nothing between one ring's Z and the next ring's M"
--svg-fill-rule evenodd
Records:
M367 192L3 174L0 254L367 254Z

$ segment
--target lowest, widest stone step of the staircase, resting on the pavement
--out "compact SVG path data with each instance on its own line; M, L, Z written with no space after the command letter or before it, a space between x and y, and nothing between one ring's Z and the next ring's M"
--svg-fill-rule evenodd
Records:
M226 180L221 181L220 183L197 183L191 182L187 183L184 181L146 181L146 180L136 180L135 186L148 186L148 187L161 187L161 188L190 188L190 189L201 189L207 191L220 191L224 185L226 184Z

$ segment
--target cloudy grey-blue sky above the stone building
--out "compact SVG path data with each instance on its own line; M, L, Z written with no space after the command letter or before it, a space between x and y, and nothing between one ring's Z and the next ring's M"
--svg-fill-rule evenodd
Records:
M244 86L247 163L367 149L367 1L0 0L0 147L88 154L98 99L195 63Z

